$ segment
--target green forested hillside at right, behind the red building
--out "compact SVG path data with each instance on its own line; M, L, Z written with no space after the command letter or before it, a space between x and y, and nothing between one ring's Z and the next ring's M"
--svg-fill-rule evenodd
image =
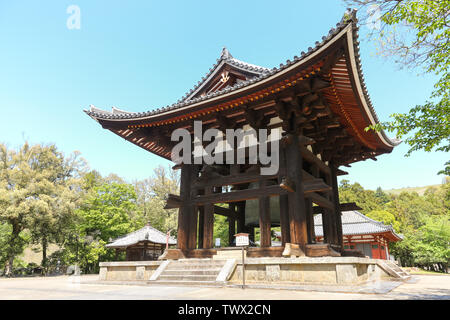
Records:
M404 266L447 270L450 260L450 180L417 192L386 193L364 190L342 180L341 202L356 202L368 217L390 224L403 241L391 244L391 253Z

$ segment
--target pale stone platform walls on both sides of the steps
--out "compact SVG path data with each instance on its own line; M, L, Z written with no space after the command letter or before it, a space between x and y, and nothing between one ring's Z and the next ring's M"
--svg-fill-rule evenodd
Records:
M228 275L224 275L223 278L227 279L229 284L241 284L242 261L241 259L233 261L235 261L233 268L228 268ZM163 261L101 262L100 280L148 281L162 263ZM356 257L245 259L245 281L249 284L355 285L383 279L392 278L377 265L376 259Z

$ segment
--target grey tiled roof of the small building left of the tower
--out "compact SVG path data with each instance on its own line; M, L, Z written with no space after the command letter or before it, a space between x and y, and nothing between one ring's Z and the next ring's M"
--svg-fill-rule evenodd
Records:
M150 225L131 232L123 237L115 239L113 242L106 245L107 248L125 248L141 241L150 241L158 244L165 244L167 235ZM169 244L177 244L177 240L169 237Z

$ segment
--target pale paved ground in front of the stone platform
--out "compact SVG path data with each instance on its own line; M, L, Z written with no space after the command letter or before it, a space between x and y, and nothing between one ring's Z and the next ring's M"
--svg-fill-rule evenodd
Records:
M97 276L80 278L60 276L47 278L0 279L0 299L257 299L257 300L360 300L360 299L445 299L450 300L450 276L413 276L386 294L312 292L275 289L169 287L162 285L105 285Z

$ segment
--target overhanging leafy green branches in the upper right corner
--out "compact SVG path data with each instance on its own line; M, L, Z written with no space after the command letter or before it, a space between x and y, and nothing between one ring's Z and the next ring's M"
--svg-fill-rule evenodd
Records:
M370 36L379 39L379 51L396 57L409 68L420 67L439 80L430 99L408 113L394 113L393 120L371 127L406 136L409 156L416 150L450 151L450 1L448 0L346 0L367 12L360 21L380 23ZM378 11L378 10L379 11ZM380 15L378 18L377 15ZM450 175L450 161L439 173Z

